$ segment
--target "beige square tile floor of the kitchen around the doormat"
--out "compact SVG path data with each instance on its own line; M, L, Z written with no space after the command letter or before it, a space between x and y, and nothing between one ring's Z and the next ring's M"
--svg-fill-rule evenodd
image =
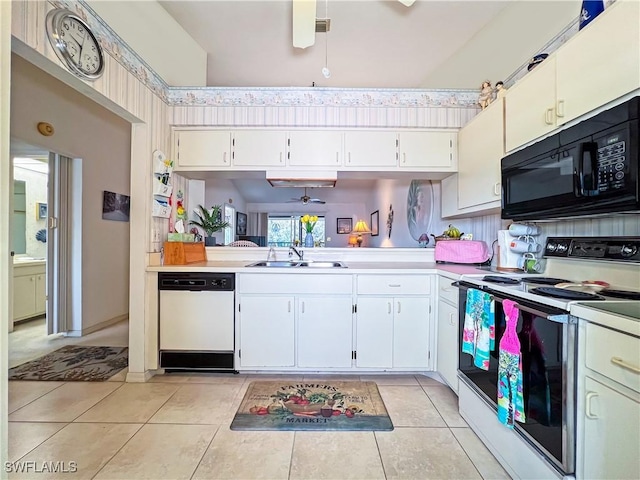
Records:
M238 432L229 425L256 379L316 375L170 374L144 384L9 382L11 461L76 462L75 474L10 478L509 478L457 413L457 397L422 375L375 381L391 432ZM62 465L62 464L61 464Z

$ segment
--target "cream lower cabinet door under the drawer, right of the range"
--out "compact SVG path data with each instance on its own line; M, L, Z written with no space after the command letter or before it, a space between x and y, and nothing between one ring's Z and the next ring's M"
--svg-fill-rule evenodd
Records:
M584 403L576 477L637 479L640 403L590 377L585 379Z

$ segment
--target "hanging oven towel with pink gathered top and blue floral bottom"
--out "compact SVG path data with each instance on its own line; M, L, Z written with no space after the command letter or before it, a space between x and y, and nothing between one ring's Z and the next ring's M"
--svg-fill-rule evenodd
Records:
M502 302L507 322L504 335L500 339L498 361L498 420L513 428L514 421L525 422L524 400L522 397L522 355L520 339L516 332L520 310L511 300Z

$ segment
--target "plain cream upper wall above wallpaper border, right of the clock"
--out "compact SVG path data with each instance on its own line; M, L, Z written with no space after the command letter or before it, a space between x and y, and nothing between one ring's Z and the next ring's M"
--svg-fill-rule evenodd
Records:
M168 85L207 84L207 53L158 2L87 3Z

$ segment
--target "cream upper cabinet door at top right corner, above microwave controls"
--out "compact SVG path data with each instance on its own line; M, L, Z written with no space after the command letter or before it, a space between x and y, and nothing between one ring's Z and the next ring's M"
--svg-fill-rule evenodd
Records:
M558 50L558 123L640 88L638 19L639 2L616 2Z

